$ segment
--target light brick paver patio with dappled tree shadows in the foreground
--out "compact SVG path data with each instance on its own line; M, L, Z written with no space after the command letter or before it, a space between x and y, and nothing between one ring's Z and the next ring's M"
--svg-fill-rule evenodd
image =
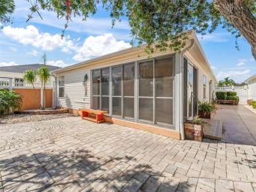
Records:
M256 191L256 147L79 117L0 126L1 191Z

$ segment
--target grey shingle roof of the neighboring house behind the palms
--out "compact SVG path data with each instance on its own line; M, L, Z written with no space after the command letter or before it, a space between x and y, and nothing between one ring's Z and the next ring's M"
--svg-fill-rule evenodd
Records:
M5 66L0 67L0 71L3 72L11 72L11 73L23 73L24 71L32 69L33 71L36 71L39 69L43 64L30 64L30 65L20 65L20 66ZM56 69L60 69L61 67L55 67L55 66L48 66L46 65L49 71L53 71Z

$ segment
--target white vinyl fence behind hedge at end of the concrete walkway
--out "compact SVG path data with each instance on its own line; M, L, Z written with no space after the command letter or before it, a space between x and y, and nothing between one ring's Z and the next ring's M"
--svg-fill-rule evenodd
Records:
M248 99L248 87L245 86L221 86L216 87L215 92L227 92L227 91L234 91L236 92L236 95L239 96L239 103L240 104L246 104L246 101Z

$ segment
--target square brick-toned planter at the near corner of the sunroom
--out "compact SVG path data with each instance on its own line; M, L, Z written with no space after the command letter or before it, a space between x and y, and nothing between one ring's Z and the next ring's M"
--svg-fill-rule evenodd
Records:
M203 139L203 125L194 125L191 123L184 123L185 139L202 142Z

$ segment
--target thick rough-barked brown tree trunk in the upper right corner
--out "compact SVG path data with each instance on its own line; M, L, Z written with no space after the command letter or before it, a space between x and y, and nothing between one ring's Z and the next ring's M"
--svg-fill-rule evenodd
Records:
M256 18L248 7L242 0L213 0L213 5L245 37L256 60Z

